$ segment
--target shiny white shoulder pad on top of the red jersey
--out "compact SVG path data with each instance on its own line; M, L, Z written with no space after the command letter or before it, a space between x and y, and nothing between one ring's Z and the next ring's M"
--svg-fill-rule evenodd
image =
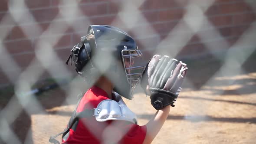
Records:
M115 94L116 95L116 94ZM108 99L101 101L94 110L97 121L120 120L130 121L137 124L136 115L125 105L125 102L119 96L118 102Z

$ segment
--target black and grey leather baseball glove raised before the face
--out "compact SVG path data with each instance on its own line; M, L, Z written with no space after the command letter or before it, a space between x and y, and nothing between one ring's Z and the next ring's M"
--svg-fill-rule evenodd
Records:
M141 87L150 96L151 105L157 110L167 105L174 107L187 65L169 56L154 55L148 62L141 78Z

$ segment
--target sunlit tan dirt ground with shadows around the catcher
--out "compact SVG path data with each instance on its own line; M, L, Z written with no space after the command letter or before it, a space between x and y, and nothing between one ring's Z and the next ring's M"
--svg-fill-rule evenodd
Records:
M191 63L176 106L153 144L255 144L255 62L251 58L242 70L215 60ZM69 98L71 104L65 98L60 88L39 95L43 112L35 109L26 115L23 111L12 124L20 142L46 144L50 135L62 131L75 107L75 97ZM125 102L138 116L139 125L156 112L140 90Z

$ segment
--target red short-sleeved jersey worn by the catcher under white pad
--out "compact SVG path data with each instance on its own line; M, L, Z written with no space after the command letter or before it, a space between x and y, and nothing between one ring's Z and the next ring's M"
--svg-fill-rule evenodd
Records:
M115 98L115 97L113 97ZM76 112L96 108L109 99L107 93L92 86L79 102ZM113 99L114 100L114 99ZM127 121L96 121L95 117L80 118L75 130L69 129L69 136L63 144L142 144L146 136L146 126L131 124Z

